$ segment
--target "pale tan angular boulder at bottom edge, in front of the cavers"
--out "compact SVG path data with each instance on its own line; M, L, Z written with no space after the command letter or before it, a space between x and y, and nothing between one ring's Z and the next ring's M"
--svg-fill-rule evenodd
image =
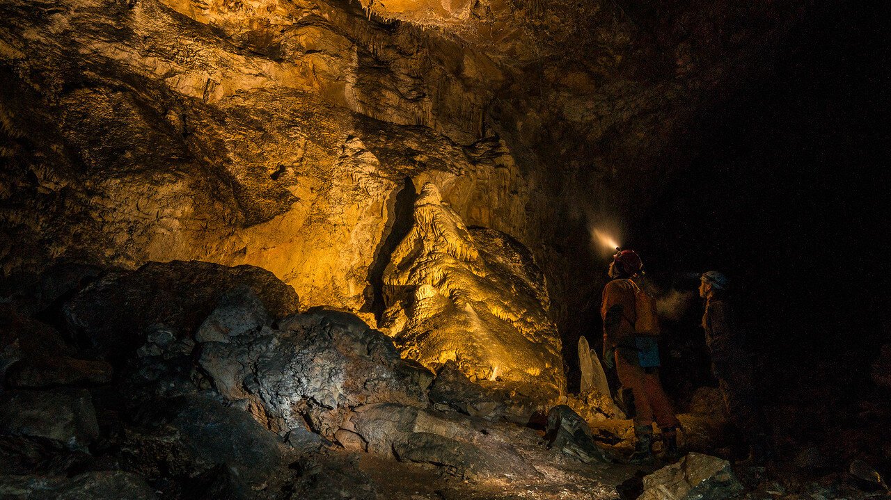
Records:
M739 495L743 487L726 460L689 453L643 478L638 500L722 500Z

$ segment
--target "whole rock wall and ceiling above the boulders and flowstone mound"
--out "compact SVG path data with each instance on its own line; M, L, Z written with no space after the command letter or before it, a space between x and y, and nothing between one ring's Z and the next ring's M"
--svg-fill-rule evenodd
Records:
M807 7L0 0L0 264L249 263L370 314L407 178L526 245L564 327L579 230L646 204Z

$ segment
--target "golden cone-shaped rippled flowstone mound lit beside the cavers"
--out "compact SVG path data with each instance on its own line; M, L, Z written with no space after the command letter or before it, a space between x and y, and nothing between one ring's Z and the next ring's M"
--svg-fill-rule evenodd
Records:
M471 381L548 400L565 389L560 337L532 255L495 230L468 229L432 183L384 272L383 328L403 355Z

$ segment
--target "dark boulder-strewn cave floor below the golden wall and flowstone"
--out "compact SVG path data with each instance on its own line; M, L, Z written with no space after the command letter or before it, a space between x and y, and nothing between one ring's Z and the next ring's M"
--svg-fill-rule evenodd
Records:
M547 411L400 359L351 314L297 310L251 266L50 268L0 304L0 498L887 497L847 467L887 467L888 356L875 387L835 394L854 375L827 372L844 384L811 377L769 407L765 467L720 458L740 447L709 388L682 415L691 454L638 466L630 422L596 398Z

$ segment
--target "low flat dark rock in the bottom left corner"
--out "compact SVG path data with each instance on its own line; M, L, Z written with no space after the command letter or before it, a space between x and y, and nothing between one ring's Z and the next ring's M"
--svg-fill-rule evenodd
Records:
M86 472L73 478L0 476L0 498L7 500L155 500L154 488L130 472Z

